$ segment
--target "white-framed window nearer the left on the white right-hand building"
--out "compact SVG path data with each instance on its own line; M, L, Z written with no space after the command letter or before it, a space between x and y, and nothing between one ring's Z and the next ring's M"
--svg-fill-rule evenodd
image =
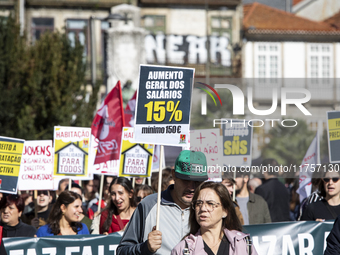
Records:
M281 78L279 43L255 43L255 78Z

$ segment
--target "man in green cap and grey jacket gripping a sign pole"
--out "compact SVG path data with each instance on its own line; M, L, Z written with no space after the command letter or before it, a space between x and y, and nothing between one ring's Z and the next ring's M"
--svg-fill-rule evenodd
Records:
M202 152L181 151L171 172L175 184L161 194L159 231L155 230L157 194L153 194L138 205L117 254L170 254L189 232L189 207L196 187L208 179L206 168L206 158Z

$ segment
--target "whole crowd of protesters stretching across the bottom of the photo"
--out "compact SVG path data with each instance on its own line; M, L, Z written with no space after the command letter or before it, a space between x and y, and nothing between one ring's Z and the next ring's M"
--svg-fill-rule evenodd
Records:
M274 159L262 164L278 165ZM204 154L184 150L174 167L163 170L158 230L155 173L151 182L105 176L101 199L98 176L81 186L71 182L71 187L63 179L57 191L38 191L36 201L32 192L3 194L2 237L119 232L117 254L121 255L257 254L249 235L242 233L242 225L324 221L340 215L339 173L315 176L313 193L300 203L298 179L285 182L276 172L259 178L237 171L236 175L223 173L220 183L211 182L207 173L195 171L197 165L206 166Z

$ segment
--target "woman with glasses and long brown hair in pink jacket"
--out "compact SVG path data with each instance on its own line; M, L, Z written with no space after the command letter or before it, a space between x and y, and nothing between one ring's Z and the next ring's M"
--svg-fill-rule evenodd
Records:
M241 232L227 188L204 182L195 191L190 208L189 234L171 251L182 254L256 255L249 235Z

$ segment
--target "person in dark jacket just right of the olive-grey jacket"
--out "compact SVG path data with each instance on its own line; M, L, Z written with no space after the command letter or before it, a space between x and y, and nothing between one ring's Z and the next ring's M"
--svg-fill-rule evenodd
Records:
M277 178L279 164L275 159L265 159L262 166L268 171L264 171L265 181L256 188L255 194L260 195L267 202L272 222L289 221L290 198L287 188Z

